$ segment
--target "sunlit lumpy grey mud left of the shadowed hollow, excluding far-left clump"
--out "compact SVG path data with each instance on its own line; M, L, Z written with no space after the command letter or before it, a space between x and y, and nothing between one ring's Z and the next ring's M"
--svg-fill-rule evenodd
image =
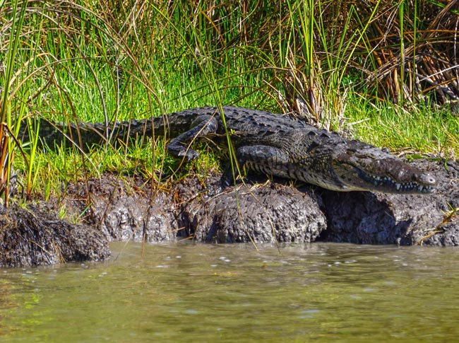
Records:
M187 178L168 192L151 192L142 180L105 175L90 180L88 220L109 240L148 243L191 239L208 243L311 242L326 217L309 190L269 182L222 191L220 178ZM85 185L68 189L69 211L87 206Z

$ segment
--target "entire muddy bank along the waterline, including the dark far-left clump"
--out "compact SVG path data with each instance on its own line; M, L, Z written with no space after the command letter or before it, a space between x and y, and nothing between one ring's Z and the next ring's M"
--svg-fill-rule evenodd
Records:
M142 178L106 174L69 185L60 202L4 211L0 266L103 260L111 240L459 245L458 217L446 219L459 207L459 163L413 164L434 173L434 193L342 193L263 178L222 190L219 175L152 190ZM62 206L84 223L56 219Z

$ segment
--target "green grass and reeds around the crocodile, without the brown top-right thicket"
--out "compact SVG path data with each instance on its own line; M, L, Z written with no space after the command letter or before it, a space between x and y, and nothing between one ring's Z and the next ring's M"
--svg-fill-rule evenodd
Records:
M339 1L335 7L329 1L297 0L266 8L256 1L213 8L212 1L178 1L169 8L167 1L143 7L109 2L104 8L87 0L69 6L49 1L36 8L30 3L28 11L20 12L23 3L13 1L18 6L14 18L0 7L4 23L16 23L23 33L16 35L11 25L0 30L11 42L8 59L0 50L0 59L8 63L0 84L11 84L1 95L1 108L12 129L23 118L112 122L203 105L285 112L297 110L297 98L308 103L311 95L316 107L306 105L317 124L350 129L353 138L393 151L458 156L458 117L436 105L411 105L401 100L403 93L397 95L398 105L375 102L377 86L362 81L360 71L369 64L378 68L370 28L381 21L376 12L384 1L366 16L355 4L343 9ZM398 11L400 22L410 15L409 8ZM341 22L341 17L348 19ZM401 28L407 40L397 48L409 44L411 28ZM422 46L422 41L415 43ZM403 86L403 78L394 83ZM23 152L24 158L16 153L14 165L26 197L48 198L68 181L104 172L159 181L161 173L180 178L219 168L215 155L203 147L197 161L178 171L177 161L163 153L161 139L145 146L101 147L83 156L71 149Z

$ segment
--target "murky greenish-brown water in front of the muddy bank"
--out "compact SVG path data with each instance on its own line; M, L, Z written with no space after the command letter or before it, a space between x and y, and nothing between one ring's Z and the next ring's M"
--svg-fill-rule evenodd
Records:
M454 342L459 250L116 243L0 269L1 342Z

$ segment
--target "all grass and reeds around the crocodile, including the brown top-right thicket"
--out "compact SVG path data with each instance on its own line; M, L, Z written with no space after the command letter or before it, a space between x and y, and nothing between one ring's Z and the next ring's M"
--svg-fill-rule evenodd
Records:
M157 180L177 167L156 137L43 153L37 118L108 123L201 105L458 156L458 14L446 0L0 1L0 192L8 204L12 165L29 199L104 170Z

